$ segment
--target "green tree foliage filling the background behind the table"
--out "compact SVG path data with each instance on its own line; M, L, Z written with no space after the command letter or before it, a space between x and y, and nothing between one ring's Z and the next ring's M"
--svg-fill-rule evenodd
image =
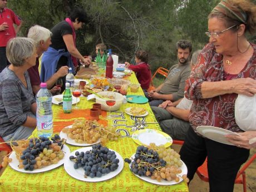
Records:
M254 2L256 0L253 0ZM8 7L24 21L20 36L40 24L51 29L67 17L74 7L82 7L88 23L76 31L77 48L92 55L95 45L104 42L119 55L119 62L131 61L139 49L149 53L151 71L177 63L175 44L190 40L193 50L202 48L209 38L208 14L219 0L12 0ZM255 41L255 36L250 37Z

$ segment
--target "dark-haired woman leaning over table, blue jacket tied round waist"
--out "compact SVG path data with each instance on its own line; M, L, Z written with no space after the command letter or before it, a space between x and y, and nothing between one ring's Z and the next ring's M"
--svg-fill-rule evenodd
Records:
M62 66L71 67L75 72L75 67L78 66L77 60L83 65L91 63L89 58L83 58L81 53L76 48L76 32L75 30L82 28L83 24L87 22L86 12L81 8L75 8L70 17L65 21L57 23L51 29L52 44L42 56L41 74L42 82L46 82L58 71ZM63 85L65 85L66 78L62 77ZM61 91L65 90L65 86L61 87Z

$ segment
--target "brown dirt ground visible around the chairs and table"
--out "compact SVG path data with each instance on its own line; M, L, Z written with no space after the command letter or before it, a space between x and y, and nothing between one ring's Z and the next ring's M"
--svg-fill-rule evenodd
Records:
M180 145L173 145L175 151L180 150ZM256 149L250 150L250 156L255 154ZM2 156L6 155L4 151L0 151L0 163L2 163ZM0 170L0 175L3 172L3 168ZM246 178L247 178L247 192L255 192L256 191L256 160L247 168L246 170ZM206 192L209 191L209 184L205 181L201 180L198 175L195 174L194 179L191 181L189 185L190 192ZM243 185L235 184L234 192L242 192Z

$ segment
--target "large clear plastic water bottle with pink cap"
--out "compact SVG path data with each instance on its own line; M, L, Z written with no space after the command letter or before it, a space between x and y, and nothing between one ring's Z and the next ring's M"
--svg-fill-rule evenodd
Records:
M41 83L41 89L36 94L37 132L38 136L51 137L52 126L52 93L48 91L46 83Z

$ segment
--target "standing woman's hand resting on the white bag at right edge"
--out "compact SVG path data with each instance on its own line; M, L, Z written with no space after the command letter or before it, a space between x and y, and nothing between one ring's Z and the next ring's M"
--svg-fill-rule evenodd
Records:
M256 94L256 80L253 78L237 78L231 81L232 92L237 94L246 95L249 97Z

